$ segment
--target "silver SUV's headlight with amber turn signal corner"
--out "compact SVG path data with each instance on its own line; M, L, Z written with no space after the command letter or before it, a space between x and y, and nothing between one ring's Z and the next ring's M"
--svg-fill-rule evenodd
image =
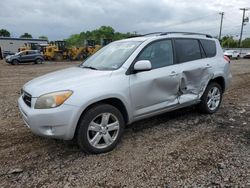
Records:
M63 104L71 95L72 91L58 91L40 96L35 104L36 109L55 108Z

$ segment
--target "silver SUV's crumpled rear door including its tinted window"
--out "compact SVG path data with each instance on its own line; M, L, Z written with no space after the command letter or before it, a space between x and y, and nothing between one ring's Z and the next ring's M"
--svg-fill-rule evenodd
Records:
M174 44L181 74L179 103L198 100L213 77L210 60L198 39L179 38Z

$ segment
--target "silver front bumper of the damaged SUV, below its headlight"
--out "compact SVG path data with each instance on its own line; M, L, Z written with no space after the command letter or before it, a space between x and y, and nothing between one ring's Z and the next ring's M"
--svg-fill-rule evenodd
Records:
M22 97L18 107L25 124L37 135L71 140L78 121L79 107L63 104L57 108L34 109Z

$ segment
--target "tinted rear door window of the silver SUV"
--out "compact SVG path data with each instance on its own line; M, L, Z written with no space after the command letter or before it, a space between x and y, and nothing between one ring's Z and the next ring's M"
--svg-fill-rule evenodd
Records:
M178 63L202 58L200 44L196 39L175 39L175 49Z

